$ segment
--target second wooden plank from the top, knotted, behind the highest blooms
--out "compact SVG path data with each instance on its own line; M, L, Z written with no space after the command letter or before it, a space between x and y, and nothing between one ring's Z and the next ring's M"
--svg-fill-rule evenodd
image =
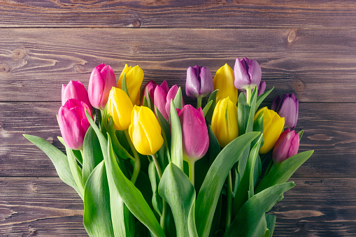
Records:
M87 85L102 62L117 75L139 64L145 82L184 86L188 66L214 75L249 57L272 96L356 102L355 41L354 29L1 29L0 101L59 101L62 83Z

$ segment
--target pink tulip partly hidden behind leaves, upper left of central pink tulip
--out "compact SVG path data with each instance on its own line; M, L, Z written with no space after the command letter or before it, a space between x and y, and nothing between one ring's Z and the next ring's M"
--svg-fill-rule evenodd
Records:
M157 86L154 93L155 106L162 113L163 117L168 121L169 113L171 111L171 99L174 100L178 92L178 85L173 85L171 89L168 90L168 85L166 81L162 82L160 86ZM185 105L183 101L183 106Z

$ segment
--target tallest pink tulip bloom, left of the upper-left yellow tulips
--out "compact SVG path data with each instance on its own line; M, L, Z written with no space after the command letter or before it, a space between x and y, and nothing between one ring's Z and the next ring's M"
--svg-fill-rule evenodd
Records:
M100 64L90 75L88 94L94 108L104 110L112 87L116 85L116 78L111 66Z

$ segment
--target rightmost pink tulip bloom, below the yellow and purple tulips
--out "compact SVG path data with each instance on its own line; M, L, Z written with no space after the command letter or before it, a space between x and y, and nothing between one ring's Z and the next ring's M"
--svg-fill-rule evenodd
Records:
M280 134L274 145L272 159L274 164L280 164L285 159L297 155L299 149L299 134L286 129Z

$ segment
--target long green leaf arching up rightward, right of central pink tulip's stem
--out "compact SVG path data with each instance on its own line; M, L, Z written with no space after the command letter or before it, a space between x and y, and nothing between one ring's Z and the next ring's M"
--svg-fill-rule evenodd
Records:
M229 143L216 157L209 168L206 178L197 196L197 231L199 236L208 236L213 222L214 212L220 192L232 166L241 159L245 148L250 147L251 141L259 132L251 132L238 136Z

